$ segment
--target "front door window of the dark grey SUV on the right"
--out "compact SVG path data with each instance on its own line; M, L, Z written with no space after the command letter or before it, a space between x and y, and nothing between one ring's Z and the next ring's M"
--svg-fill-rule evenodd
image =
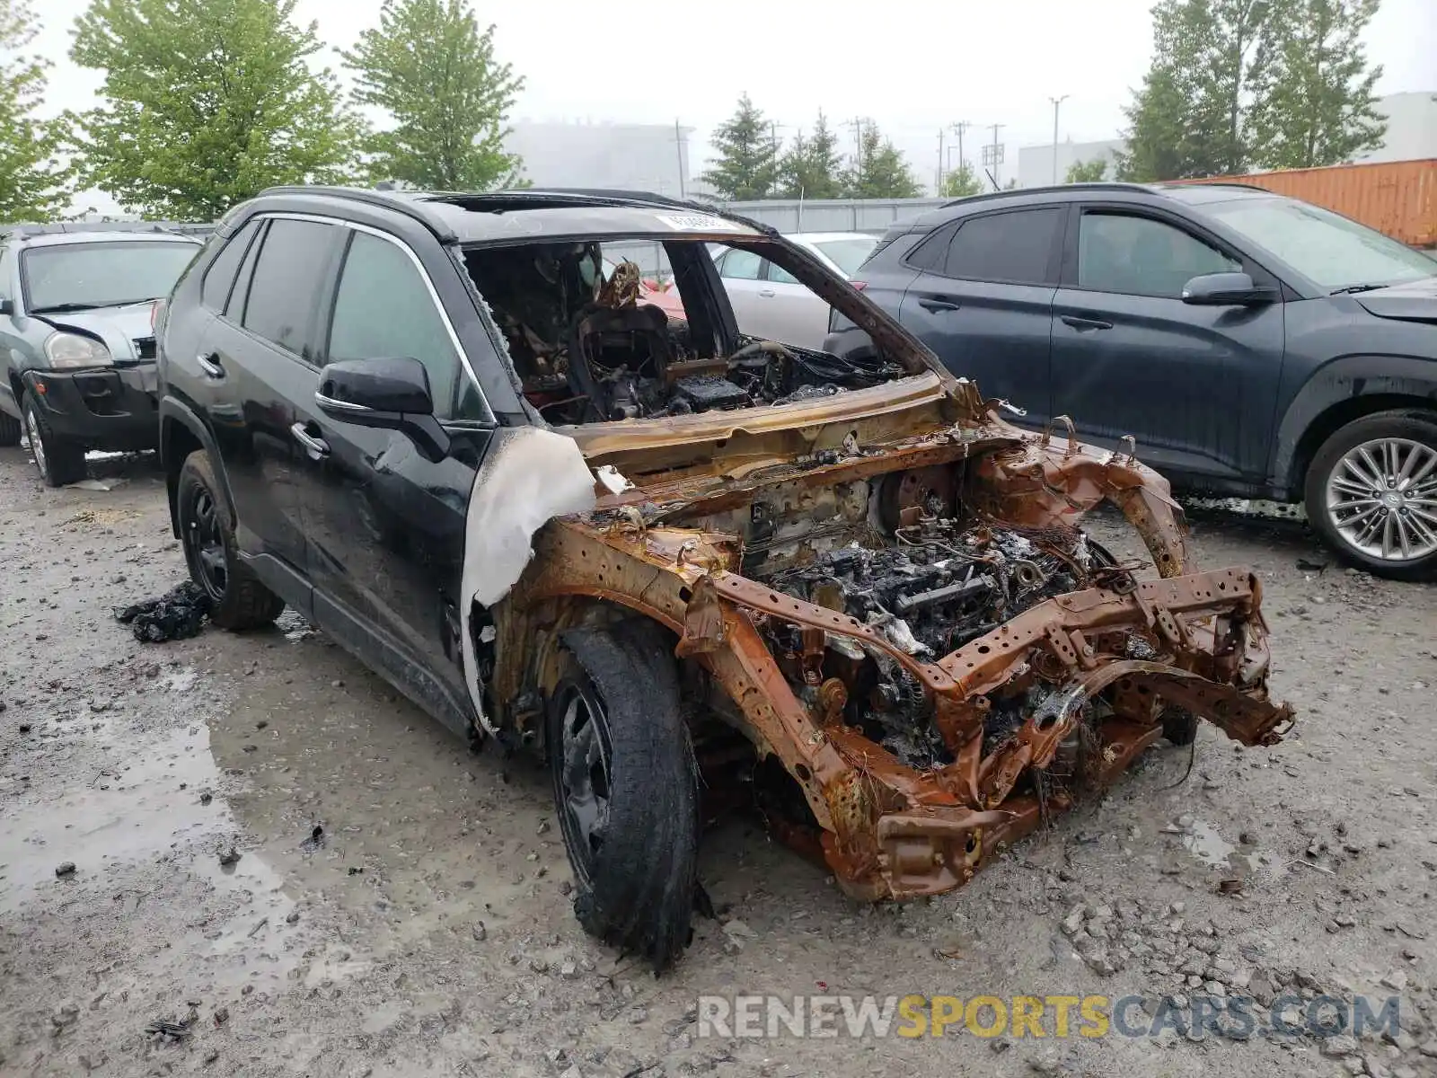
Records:
M1180 299L1203 273L1242 266L1181 229L1151 217L1085 213L1078 223L1078 287Z

